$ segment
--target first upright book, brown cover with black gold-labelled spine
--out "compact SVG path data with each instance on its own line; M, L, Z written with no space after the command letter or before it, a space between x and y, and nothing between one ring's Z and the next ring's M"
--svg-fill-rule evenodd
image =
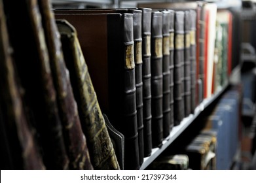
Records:
M77 30L101 110L125 137L124 169L139 169L133 14L55 16Z

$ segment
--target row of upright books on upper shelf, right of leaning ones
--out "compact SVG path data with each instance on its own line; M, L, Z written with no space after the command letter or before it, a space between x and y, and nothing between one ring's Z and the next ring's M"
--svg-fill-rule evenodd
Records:
M100 107L124 135L124 169L139 169L232 70L229 10L201 1L138 7L54 10L77 29Z

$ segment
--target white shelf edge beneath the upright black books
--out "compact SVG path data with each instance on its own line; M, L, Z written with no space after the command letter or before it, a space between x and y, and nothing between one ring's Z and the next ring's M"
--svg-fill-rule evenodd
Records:
M181 124L172 128L172 131L164 141L162 141L162 146L160 148L153 148L151 156L144 158L143 164L140 169L145 169L150 163L152 163L179 135L196 119L196 117L208 107L221 93L227 88L227 84L222 88L219 88L211 97L204 99L198 107L195 108L194 114L190 114L187 118L181 121Z

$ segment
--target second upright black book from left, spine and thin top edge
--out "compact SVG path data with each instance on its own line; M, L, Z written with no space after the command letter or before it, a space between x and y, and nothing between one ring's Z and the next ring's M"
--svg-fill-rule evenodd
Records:
M136 110L137 133L139 143L139 164L143 163L143 80L142 80L142 55L141 55L141 10L127 8L92 8L92 9L64 9L55 10L56 14L96 14L96 13L132 13L134 26L134 61L136 76Z

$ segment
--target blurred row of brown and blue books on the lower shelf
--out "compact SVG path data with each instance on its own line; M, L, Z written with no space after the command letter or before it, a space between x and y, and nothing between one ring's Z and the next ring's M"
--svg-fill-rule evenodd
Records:
M197 119L202 127L194 129L197 134L191 134L191 140L175 142L147 169L230 169L239 148L241 107L241 87L232 86L204 119Z

